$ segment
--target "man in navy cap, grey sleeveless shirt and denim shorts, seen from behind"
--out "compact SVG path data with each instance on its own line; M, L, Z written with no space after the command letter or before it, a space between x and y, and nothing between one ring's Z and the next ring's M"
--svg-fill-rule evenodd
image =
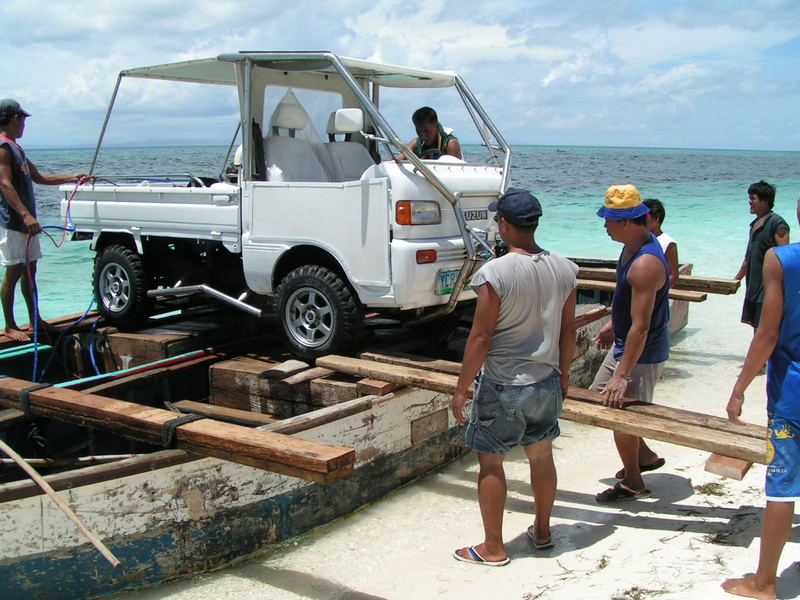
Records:
M468 388L481 371L466 443L478 454L485 537L453 556L499 567L509 562L503 546L503 459L515 446L524 447L531 466L536 517L528 537L536 549L553 546L552 441L559 435L558 416L575 352L578 267L536 243L542 207L530 192L509 188L489 210L497 212L494 220L508 253L484 264L470 282L478 302L451 405L456 421L464 425Z

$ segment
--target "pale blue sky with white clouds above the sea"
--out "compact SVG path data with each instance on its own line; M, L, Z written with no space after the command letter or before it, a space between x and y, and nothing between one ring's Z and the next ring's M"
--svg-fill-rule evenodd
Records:
M460 73L512 145L800 151L797 0L3 0L0 24L28 148L93 146L122 69L331 50ZM227 144L227 94L123 88L110 139ZM456 100L440 120L474 141ZM387 108L401 137L413 108Z

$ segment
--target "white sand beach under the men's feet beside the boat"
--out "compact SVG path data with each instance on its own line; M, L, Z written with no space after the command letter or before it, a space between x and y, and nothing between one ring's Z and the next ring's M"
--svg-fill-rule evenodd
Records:
M741 292L694 305L673 346L656 401L725 415L749 328L738 323ZM753 383L744 418L765 423L764 377ZM654 442L664 468L645 475L652 498L601 506L594 495L620 467L611 433L562 422L556 443L559 493L555 548L535 551L528 469L521 451L506 462L504 532L512 558L503 568L464 564L454 548L482 541L477 465L469 454L354 515L235 568L123 595L170 598L337 600L512 598L731 598L726 577L755 569L764 504L764 467L743 481L703 469L708 454ZM800 594L793 566L800 538L787 544L779 597Z

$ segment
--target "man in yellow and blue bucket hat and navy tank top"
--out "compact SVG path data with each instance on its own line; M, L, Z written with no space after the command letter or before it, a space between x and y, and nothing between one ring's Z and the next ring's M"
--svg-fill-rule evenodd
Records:
M617 262L617 286L611 306L611 321L595 341L611 348L600 366L591 389L600 391L606 406L622 408L623 398L653 401L653 388L669 356L669 266L656 237L647 230L649 209L632 185L614 185L606 192L597 216L605 219L608 235L623 244ZM598 502L645 498L650 490L643 471L664 464L634 435L614 432L622 460L620 481L599 494Z

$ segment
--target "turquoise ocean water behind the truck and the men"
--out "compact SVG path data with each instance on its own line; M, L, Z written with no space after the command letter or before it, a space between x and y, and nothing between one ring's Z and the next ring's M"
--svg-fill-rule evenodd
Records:
M168 165L170 174L214 177L226 150L218 146L107 149L95 173L164 173ZM516 146L512 151L511 184L530 189L542 202L540 245L567 256L618 256L619 244L608 238L595 213L605 189L620 183L632 183L644 198L664 203L664 230L676 239L681 262L693 263L697 275L732 277L738 270L752 219L747 187L760 179L777 186L775 211L792 227L793 240L800 241L795 216L800 152L569 146ZM465 147L467 158L480 156L479 152ZM28 151L40 170L55 173L88 171L92 154L87 149ZM48 186L37 186L36 193L42 224L62 224L63 193ZM52 235L56 241L60 238ZM67 240L56 248L43 237L42 251L38 273L42 316L84 311L92 299L93 253L88 242ZM17 296L17 321L25 323L25 307Z

